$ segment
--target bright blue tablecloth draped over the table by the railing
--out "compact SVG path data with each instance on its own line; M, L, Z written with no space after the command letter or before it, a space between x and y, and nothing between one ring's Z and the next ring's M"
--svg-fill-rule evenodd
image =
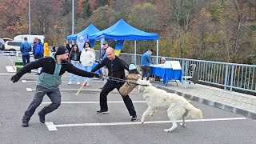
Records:
M173 70L172 68L150 66L152 75L157 75L162 78L163 83L170 80L179 80L182 82L182 70Z

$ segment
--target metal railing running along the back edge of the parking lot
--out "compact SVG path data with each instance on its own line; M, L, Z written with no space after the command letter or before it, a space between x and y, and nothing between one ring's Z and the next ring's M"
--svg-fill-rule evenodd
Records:
M99 59L99 51L95 50L96 59ZM0 55L22 56L20 51L1 51ZM30 52L30 55L33 55ZM128 63L137 64L141 62L142 54L121 53L119 55ZM157 62L156 56L152 56L152 61ZM160 58L158 62L160 62ZM256 92L256 65L246 65L227 62L212 62L186 58L168 58L166 61L179 61L182 66L183 75L188 74L190 64L196 64L199 82L209 83L215 86L222 86L225 90L246 90Z

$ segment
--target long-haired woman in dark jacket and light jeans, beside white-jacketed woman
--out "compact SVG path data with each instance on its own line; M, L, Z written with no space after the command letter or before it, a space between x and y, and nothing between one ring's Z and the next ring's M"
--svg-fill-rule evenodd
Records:
M81 55L81 51L78 49L78 45L74 44L72 50L70 51L69 58L71 63L78 69L81 67L80 55ZM77 84L80 85L80 76L76 75L76 78L77 78ZM74 74L70 74L70 82L68 84L71 85L73 83L73 80L74 80Z

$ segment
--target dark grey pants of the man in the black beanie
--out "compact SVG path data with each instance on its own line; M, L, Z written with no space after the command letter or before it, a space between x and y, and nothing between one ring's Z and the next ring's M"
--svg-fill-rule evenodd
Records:
M27 108L22 121L30 121L31 116L34 114L34 111L37 109L37 107L41 104L42 98L47 94L47 96L50 98L50 101L52 102L50 105L45 106L41 111L40 114L48 114L58 108L58 106L61 105L61 92L59 89L50 90L46 89L42 86L37 86L36 93L34 94L34 99L30 103L30 106Z

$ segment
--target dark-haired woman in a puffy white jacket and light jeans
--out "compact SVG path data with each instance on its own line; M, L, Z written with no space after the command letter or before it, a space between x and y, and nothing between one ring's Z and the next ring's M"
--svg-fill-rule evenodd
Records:
M90 72L95 62L95 52L93 49L90 48L89 42L85 42L85 45L83 47L84 48L82 49L82 53L80 56L82 70ZM86 77L84 77L83 79L84 81L86 81ZM88 79L86 86L90 86L90 78Z

